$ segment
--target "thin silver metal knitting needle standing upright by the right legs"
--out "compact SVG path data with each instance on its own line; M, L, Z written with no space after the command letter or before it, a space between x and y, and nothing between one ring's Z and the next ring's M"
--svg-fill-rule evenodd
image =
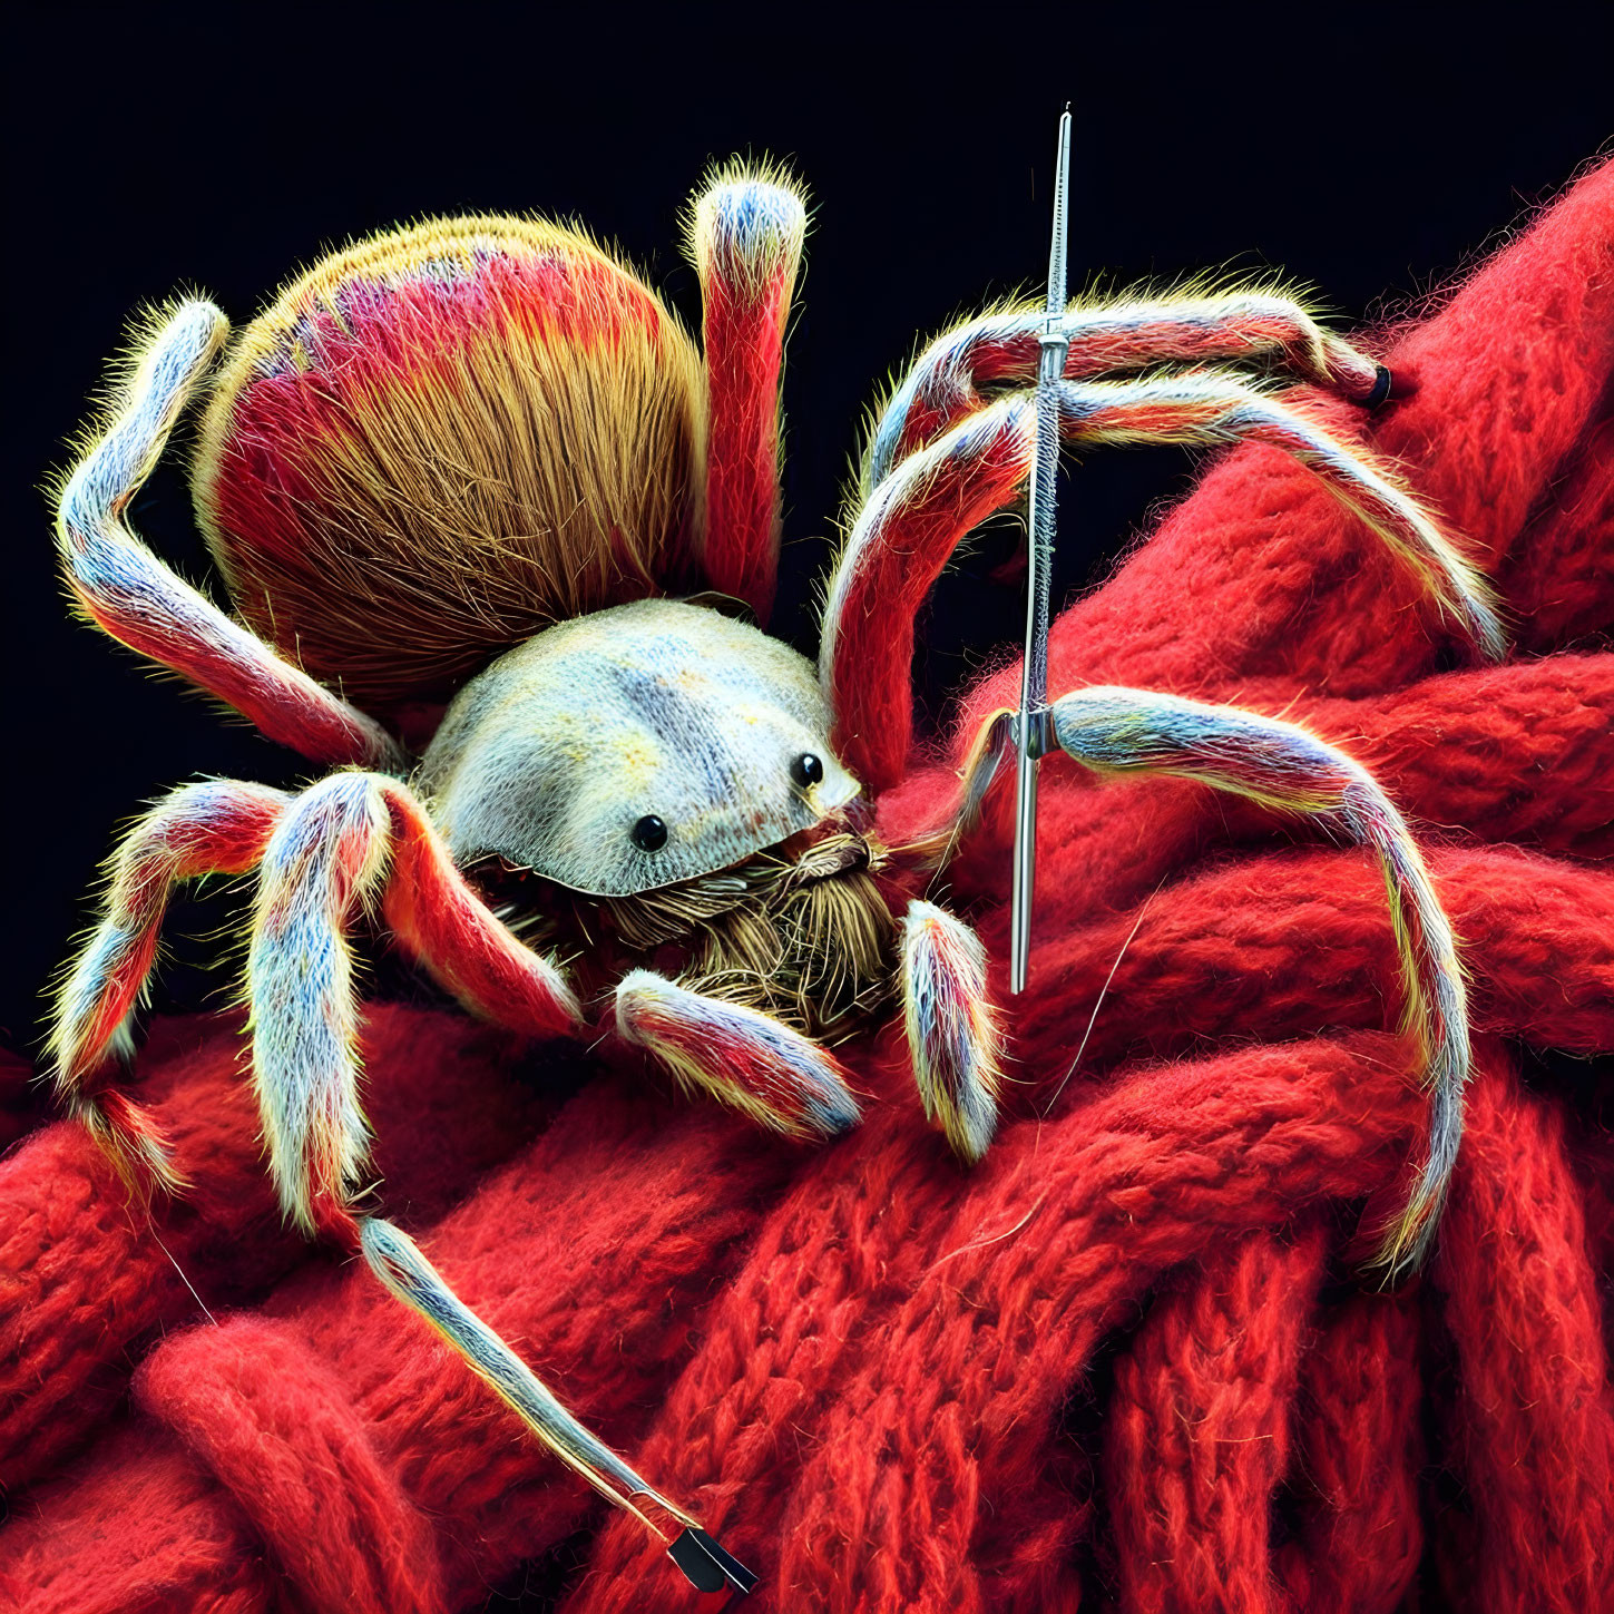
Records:
M1054 571L1059 500L1059 383L1070 337L1065 312L1065 220L1070 199L1070 107L1059 119L1054 169L1054 242L1047 253L1047 318L1036 368L1031 533L1027 568L1025 670L1015 725L1014 891L1010 894L1009 991L1023 993L1031 952L1031 884L1036 875L1036 765L1047 749L1047 597Z

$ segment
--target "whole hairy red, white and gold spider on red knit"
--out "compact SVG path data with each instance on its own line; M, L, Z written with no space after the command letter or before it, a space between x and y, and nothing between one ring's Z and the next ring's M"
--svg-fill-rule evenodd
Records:
M946 332L878 412L813 668L744 617L770 604L804 231L786 176L707 181L689 215L704 358L571 226L434 220L316 263L236 339L199 431L195 505L234 615L126 520L224 345L211 303L147 321L56 491L77 607L331 770L302 791L189 784L136 823L60 989L58 1093L131 1180L184 1188L111 1073L169 889L255 873L252 1078L286 1215L362 1251L608 1499L657 1533L654 1511L678 1520L675 1558L710 1588L747 1572L366 1207L350 933L368 918L475 1014L534 1038L597 1027L796 1136L857 1122L834 1047L899 1012L925 1114L965 1160L988 1149L1004 1015L975 931L922 891L1017 742L1012 715L983 726L931 833L880 844L870 796L914 749L891 715L914 615L1027 481L1043 316L1009 308ZM1298 302L1075 303L1062 329L1068 444L1273 444L1425 579L1433 610L1499 650L1483 583L1391 468L1278 391L1299 379L1375 407L1391 386ZM1461 1136L1467 1018L1394 805L1294 725L1167 694L1060 694L1043 739L1101 773L1186 776L1309 815L1377 854L1432 1107L1380 1259L1415 1264Z

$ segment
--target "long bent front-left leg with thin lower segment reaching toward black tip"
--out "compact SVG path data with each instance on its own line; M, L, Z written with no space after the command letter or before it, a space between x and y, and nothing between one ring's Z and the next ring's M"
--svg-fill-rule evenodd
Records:
M646 1495L681 1524L694 1524L591 1435L531 1369L449 1288L392 1223L353 1209L368 1156L358 1106L358 1027L347 928L397 881L407 897L399 939L423 955L444 985L473 1007L528 1028L565 1031L576 1004L554 970L529 960L513 983L513 1015L497 997L508 980L502 930L463 884L418 802L394 780L341 773L312 786L284 812L263 854L247 967L253 1083L281 1204L308 1231L334 1233L363 1251L381 1283L426 1319L528 1428L613 1503L655 1528L633 1503ZM436 910L426 917L428 910Z

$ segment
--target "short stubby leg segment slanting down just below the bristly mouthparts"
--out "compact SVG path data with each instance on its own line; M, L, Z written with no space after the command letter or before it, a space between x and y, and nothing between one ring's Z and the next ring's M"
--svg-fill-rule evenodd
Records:
M707 1093L788 1138L833 1138L860 1112L826 1047L744 1004L689 991L652 970L617 983L617 1033L688 1091Z

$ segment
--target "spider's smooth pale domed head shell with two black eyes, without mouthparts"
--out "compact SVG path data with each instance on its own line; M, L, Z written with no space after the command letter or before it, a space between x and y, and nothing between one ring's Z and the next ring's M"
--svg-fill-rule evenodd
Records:
M420 788L466 867L631 897L742 863L859 791L805 657L747 623L639 600L549 628L471 679Z

